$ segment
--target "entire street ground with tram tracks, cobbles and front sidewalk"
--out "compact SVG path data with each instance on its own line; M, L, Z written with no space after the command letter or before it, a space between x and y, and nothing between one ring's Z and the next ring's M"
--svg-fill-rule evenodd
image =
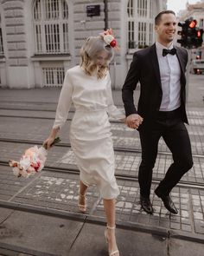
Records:
M67 138L70 120L41 173L29 179L16 178L7 164L10 158L18 160L34 142L40 145L48 135L59 92L0 90L0 255L108 255L105 215L96 187L88 191L87 213L78 213L79 171ZM113 92L117 105L121 105L120 95L120 91ZM159 144L161 154L151 191L155 213L148 215L138 204L141 152L137 132L112 122L120 189L116 206L120 255L203 255L204 108L198 103L188 105L194 167L172 192L178 215L169 214L153 193L172 161L164 142Z

